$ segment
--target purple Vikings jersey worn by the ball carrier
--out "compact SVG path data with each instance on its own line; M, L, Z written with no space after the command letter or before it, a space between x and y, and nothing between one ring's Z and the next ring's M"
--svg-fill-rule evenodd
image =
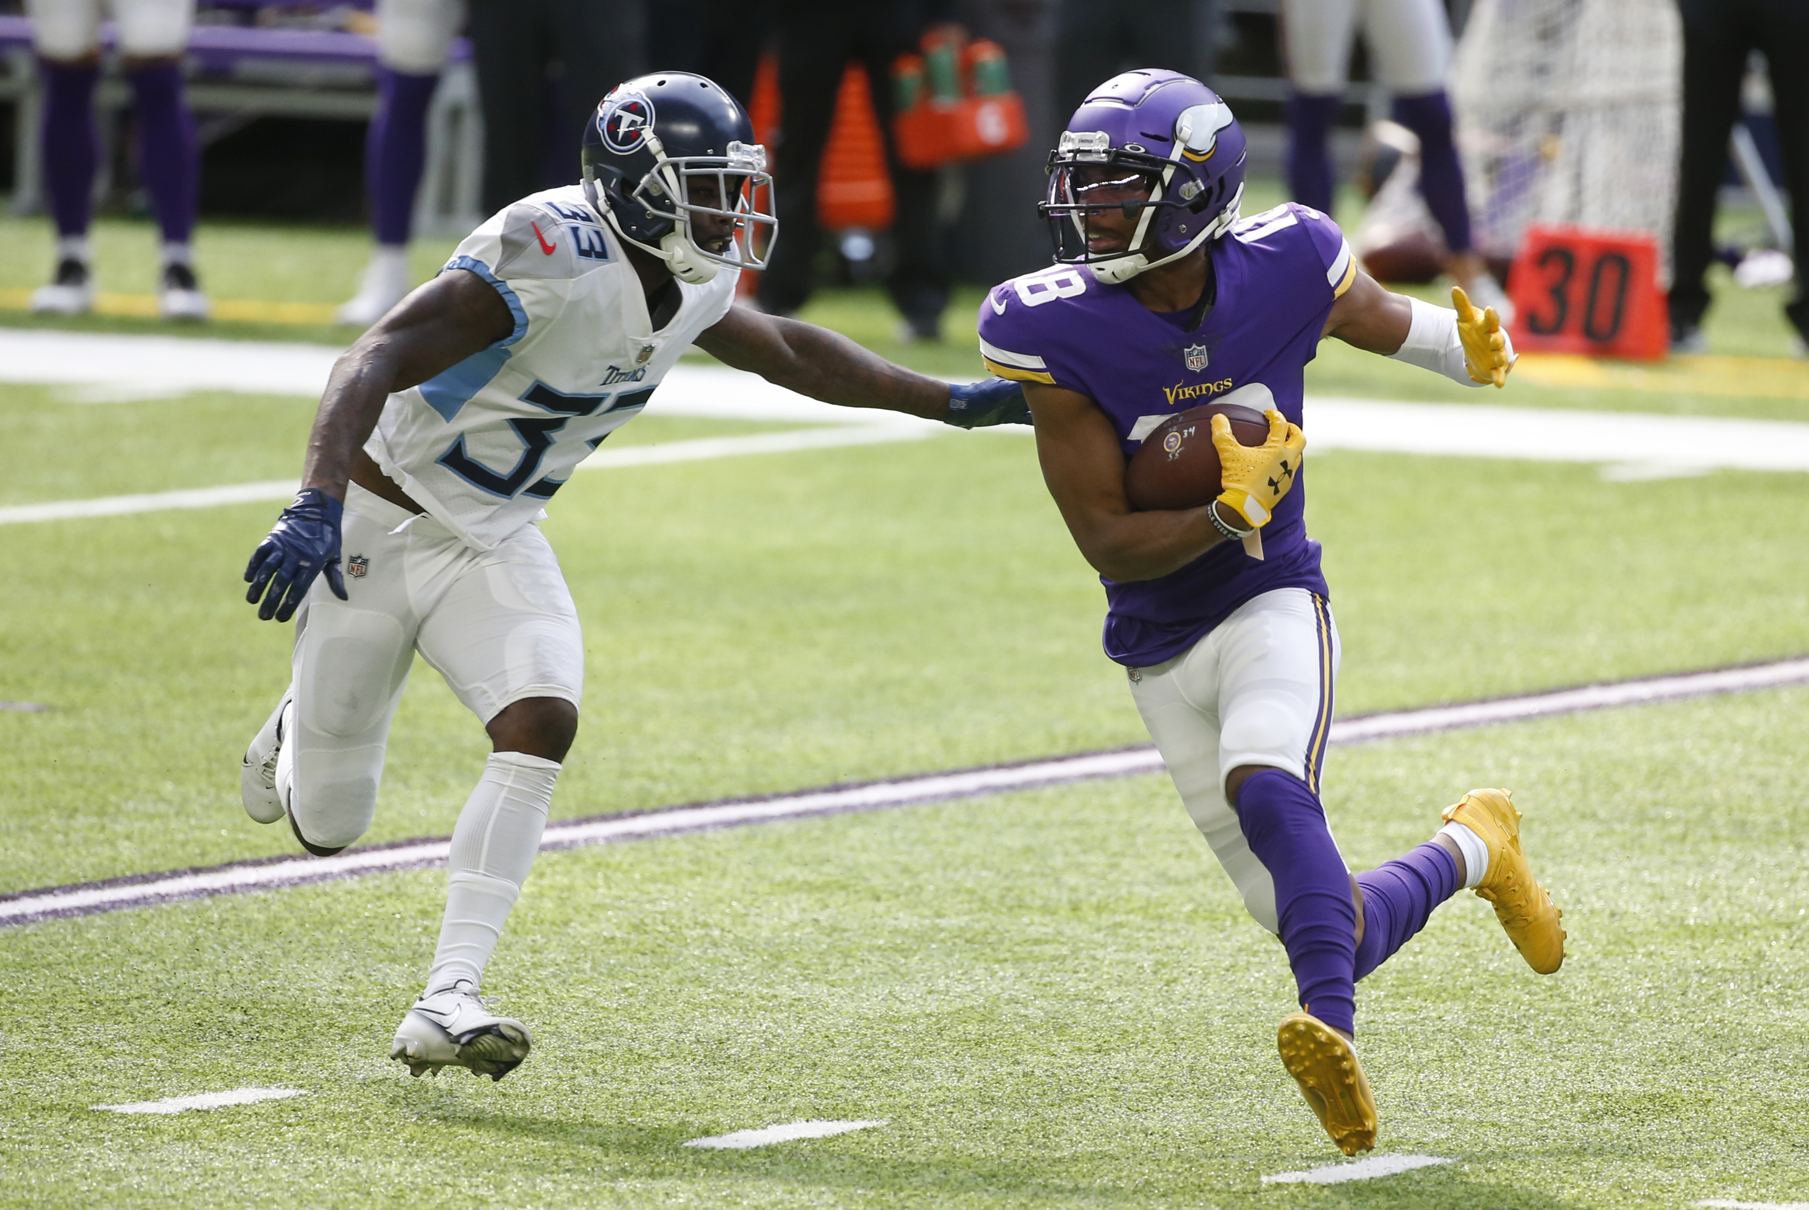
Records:
M1190 315L1151 311L1129 288L1073 266L995 286L980 304L986 367L1094 400L1127 459L1161 421L1201 403L1274 407L1304 429L1306 364L1331 302L1357 277L1344 233L1317 210L1290 203L1237 222L1208 248L1217 295L1194 331L1185 331ZM1221 543L1161 579L1100 577L1109 602L1105 655L1149 667L1187 651L1257 593L1324 595L1304 508L1302 472L1261 530L1261 559Z

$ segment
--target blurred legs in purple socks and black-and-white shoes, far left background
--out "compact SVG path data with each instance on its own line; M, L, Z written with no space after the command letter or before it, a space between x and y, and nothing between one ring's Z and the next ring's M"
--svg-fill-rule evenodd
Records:
M94 87L101 74L101 9L114 20L119 67L137 114L137 172L163 235L157 311L203 320L208 298L195 280L190 237L201 152L183 99L183 49L195 0L27 0L43 72L43 181L56 222L56 275L31 295L31 309L81 315L94 307L89 222L99 136Z

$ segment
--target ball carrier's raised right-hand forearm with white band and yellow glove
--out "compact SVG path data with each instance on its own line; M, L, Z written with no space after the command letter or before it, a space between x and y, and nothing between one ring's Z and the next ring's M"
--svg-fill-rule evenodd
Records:
M1507 385L1514 369L1514 342L1494 307L1474 307L1462 289L1451 288L1456 311L1382 289L1368 273L1331 304L1326 336L1380 353L1465 387Z

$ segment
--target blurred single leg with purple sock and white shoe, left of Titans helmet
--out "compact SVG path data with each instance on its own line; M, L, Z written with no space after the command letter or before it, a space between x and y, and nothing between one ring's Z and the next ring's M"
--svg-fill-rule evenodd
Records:
M364 188L376 246L340 324L369 327L409 293L409 226L427 163L427 107L465 24L459 0L376 0L376 112L364 143Z

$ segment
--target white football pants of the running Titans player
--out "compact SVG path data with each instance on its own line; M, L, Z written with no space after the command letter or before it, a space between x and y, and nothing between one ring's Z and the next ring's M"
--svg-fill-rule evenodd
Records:
M353 483L340 555L351 600L320 577L297 613L295 733L284 740L289 812L324 848L371 827L416 651L483 723L523 698L577 705L584 687L577 608L537 526L474 550Z

